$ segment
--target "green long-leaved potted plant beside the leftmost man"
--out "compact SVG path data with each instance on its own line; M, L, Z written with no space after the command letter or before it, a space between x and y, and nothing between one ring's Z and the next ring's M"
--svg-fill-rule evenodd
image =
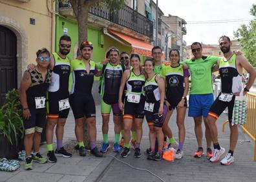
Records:
M16 89L10 90L6 99L8 102L0 108L0 132L12 145L14 141L17 145L17 138L24 135L19 92Z

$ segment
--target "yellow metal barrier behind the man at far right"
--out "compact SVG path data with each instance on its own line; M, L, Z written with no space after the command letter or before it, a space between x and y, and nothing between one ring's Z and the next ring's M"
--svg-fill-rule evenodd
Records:
M254 157L256 161L256 94L248 93L247 98L247 122L242 125L242 130L254 141ZM222 132L225 130L225 125L229 123L228 120L222 124Z

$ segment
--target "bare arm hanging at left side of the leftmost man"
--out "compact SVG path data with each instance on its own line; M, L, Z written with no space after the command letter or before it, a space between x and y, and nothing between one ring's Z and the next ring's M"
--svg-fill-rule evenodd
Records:
M19 99L21 100L21 106L23 108L23 117L25 117L25 119L28 119L28 117L30 117L30 111L28 109L27 94L26 94L30 85L31 85L30 74L28 72L25 72L23 74L23 77L21 79L21 85L19 87Z

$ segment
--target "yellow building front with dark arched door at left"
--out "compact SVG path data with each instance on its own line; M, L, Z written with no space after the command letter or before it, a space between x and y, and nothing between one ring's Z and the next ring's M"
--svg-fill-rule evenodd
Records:
M0 0L0 105L17 88L36 51L54 50L54 1Z

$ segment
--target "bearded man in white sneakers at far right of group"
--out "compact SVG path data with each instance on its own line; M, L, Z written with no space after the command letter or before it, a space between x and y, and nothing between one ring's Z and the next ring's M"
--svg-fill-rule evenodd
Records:
M220 59L219 73L221 79L221 92L217 99L215 99L208 114L208 125L211 131L211 138L213 140L213 157L211 162L219 161L220 157L224 154L225 149L220 147L218 142L218 131L216 121L220 114L228 107L228 120L230 128L229 137L229 151L226 156L220 161L222 165L231 165L234 162L233 152L237 145L238 139L238 126L231 125L233 108L236 96L244 96L249 92L251 85L256 76L256 71L253 66L247 61L244 56L237 56L230 50L231 42L229 37L222 36L219 39L219 47L223 52L224 57ZM243 68L250 74L248 84L243 88L242 85L242 70Z

